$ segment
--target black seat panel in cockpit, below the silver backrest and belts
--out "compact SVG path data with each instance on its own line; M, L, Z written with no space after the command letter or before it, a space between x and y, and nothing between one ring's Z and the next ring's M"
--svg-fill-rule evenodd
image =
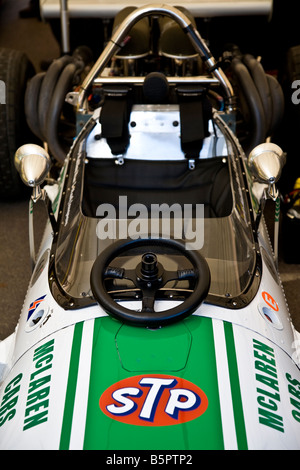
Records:
M231 213L232 194L227 163L223 158L200 159L191 171L185 160L147 161L126 159L118 166L113 159L90 159L86 164L82 211L96 217L100 204L118 211L119 196L128 206L151 204L204 204L205 217Z

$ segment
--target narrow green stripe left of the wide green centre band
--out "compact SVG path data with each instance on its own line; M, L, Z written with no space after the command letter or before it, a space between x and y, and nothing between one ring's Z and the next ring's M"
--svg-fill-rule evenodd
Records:
M69 377L66 392L65 409L60 436L60 450L67 450L70 445L72 419L74 411L76 384L78 377L79 356L82 339L83 323L77 323L74 328L73 344L70 359Z

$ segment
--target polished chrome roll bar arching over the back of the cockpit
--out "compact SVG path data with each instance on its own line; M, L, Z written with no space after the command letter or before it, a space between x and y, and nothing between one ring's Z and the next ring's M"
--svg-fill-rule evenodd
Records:
M141 8L137 8L130 13L120 24L117 30L113 33L110 41L99 56L98 60L86 76L82 83L81 89L77 97L78 112L85 114L86 109L86 95L88 89L92 85L95 78L103 72L108 62L113 58L117 51L122 48L123 42L126 40L131 28L142 18L146 16L169 16L176 21L184 32L189 36L196 52L200 55L203 62L206 64L208 71L218 80L225 92L225 108L227 112L233 109L233 89L229 80L224 72L217 66L216 60L212 56L210 50L205 44L196 28L191 24L187 16L175 7L163 4L150 4Z

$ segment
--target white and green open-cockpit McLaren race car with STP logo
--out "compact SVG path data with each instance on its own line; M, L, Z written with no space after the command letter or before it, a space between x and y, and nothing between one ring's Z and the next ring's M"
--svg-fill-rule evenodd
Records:
M299 449L299 333L263 216L278 82L236 47L225 73L169 5L117 15L78 85L82 55L55 63L50 104L54 67L27 90L46 145L15 164L49 221L0 343L0 448Z

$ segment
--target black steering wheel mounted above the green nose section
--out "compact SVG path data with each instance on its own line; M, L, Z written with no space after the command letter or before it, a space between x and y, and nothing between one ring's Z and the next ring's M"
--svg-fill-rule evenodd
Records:
M131 249L145 247L141 261L135 269L113 267L110 263ZM172 250L176 255L187 258L192 268L177 271L165 270L158 262L156 252ZM166 251L166 250L165 250ZM128 279L142 293L142 309L135 311L115 302L108 293L108 279ZM189 280L192 284L190 295L180 304L156 312L154 303L157 292L169 281ZM191 315L203 302L210 287L210 271L203 256L187 250L185 244L173 239L136 239L118 241L106 248L95 260L91 271L91 288L94 298L104 310L124 323L136 326L158 327L179 321Z

